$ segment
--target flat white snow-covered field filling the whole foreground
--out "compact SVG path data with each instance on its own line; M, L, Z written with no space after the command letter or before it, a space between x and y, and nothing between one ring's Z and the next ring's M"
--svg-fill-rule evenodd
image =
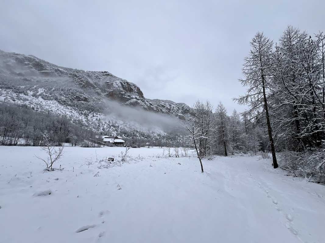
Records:
M197 158L159 148L132 148L143 159L112 168L81 165L125 148L64 150L64 170L43 173L40 147L0 146L0 242L325 240L325 187L270 160L216 157L201 173Z

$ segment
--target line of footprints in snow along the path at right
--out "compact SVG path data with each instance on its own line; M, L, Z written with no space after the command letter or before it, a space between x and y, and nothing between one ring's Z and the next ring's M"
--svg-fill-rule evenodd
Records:
M292 217L292 215L291 214L286 214L286 213L284 213L282 211L282 209L279 207L278 201L273 196L270 195L269 191L262 185L261 182L258 182L258 180L253 177L253 174L247 168L247 166L245 164L245 161L243 161L243 164L245 166L245 169L246 169L247 173L249 174L249 177L252 178L253 181L255 181L258 184L258 187L261 188L265 192L266 197L268 197L269 199L272 200L272 203L274 204L274 208L281 215L283 215L285 217L285 219L287 220L287 222L285 223L285 226L287 227L287 229L289 229L292 234L294 234L295 236L297 236L300 239L300 237L298 236L299 231L296 228L294 228L294 226L293 226L293 217ZM269 189L271 189L271 188L269 188Z

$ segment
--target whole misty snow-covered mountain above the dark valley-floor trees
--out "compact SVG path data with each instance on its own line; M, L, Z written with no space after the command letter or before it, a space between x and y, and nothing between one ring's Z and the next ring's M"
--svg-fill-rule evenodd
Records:
M127 145L188 144L179 124L191 111L186 104L146 99L138 86L108 72L0 51L0 102L64 116L84 129L122 136Z

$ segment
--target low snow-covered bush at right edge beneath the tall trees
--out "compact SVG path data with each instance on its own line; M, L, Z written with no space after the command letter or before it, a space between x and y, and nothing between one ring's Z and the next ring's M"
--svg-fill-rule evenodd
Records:
M290 171L292 176L309 180L325 181L325 149L308 152L287 151L279 154L279 166Z

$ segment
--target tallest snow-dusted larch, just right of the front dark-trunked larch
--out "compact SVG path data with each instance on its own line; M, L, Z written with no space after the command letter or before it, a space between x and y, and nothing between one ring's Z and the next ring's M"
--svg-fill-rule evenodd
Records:
M305 143L301 139L301 112L304 91L301 72L298 67L298 53L296 45L307 37L305 32L288 26L275 46L273 60L273 95L269 102L274 108L276 130L282 135L282 143L286 149L304 149ZM299 91L300 90L300 91ZM299 94L300 93L300 94Z

